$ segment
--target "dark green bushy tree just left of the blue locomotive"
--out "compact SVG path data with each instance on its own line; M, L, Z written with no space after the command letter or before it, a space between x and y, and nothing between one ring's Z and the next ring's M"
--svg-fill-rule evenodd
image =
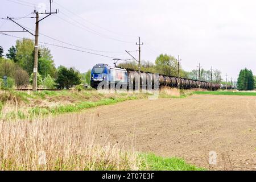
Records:
M74 85L81 84L81 76L74 68L59 67L56 79L57 88L72 88Z

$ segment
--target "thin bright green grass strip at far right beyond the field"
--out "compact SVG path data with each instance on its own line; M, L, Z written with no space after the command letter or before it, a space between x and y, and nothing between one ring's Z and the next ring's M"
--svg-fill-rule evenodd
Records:
M256 92L195 91L193 94L224 96L256 96Z

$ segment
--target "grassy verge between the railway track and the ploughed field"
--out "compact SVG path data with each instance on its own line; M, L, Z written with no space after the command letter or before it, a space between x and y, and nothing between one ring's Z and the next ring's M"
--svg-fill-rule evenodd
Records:
M81 92L17 92L0 91L0 119L14 120L37 115L79 112L91 107L115 104L127 100L147 98L149 94L98 93L96 90Z

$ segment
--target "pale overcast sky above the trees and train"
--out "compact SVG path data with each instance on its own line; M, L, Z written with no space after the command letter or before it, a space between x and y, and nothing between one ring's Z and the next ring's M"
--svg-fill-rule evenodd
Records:
M43 9L43 3L48 10L48 0L1 0L0 18L26 16L34 7ZM227 73L229 78L237 78L245 67L256 75L255 5L253 0L54 0L53 9L60 13L40 22L40 33L82 48L114 51L89 52L121 59L130 58L125 50L135 51L135 42L141 36L142 60L154 62L160 53L180 55L185 71L196 69L201 63L204 69L221 69L223 77ZM16 21L35 29L35 19ZM20 28L0 19L0 30ZM33 38L27 32L8 34ZM7 51L15 40L0 35L0 46ZM39 36L40 42L72 47L57 40ZM47 47L57 66L85 72L97 63L113 64L108 57ZM86 51L82 48L77 49ZM131 53L138 57L138 52Z

